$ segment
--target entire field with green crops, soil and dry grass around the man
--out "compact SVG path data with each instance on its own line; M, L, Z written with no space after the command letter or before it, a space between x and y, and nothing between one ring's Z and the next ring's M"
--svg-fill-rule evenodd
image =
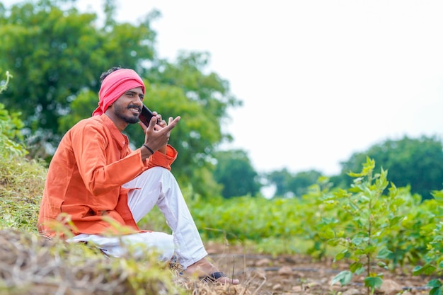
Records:
M35 234L45 169L33 161L1 168L2 295L442 292L443 192L422 202L389 185L384 171L373 173L371 161L347 190L329 190L323 179L299 198L189 199L212 260L241 279L237 287L171 280L158 262L48 243ZM167 232L158 213L140 227Z

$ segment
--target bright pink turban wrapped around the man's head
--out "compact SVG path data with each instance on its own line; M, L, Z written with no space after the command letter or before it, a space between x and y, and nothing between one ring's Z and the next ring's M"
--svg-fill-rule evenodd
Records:
M115 102L126 91L142 87L144 94L144 83L142 78L132 69L118 69L109 74L101 83L98 92L98 108L93 111L93 116L102 115L111 103Z

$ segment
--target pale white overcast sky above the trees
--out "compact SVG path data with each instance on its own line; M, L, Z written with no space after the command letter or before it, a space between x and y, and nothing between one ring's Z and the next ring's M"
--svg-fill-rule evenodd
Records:
M386 139L442 136L441 0L115 3L117 21L160 11L160 57L209 52L208 70L243 101L229 112L234 142L223 147L246 151L259 173L334 175ZM81 11L102 4L77 0Z

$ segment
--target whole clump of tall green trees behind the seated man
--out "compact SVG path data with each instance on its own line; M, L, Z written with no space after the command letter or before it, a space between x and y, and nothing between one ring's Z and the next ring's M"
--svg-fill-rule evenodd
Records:
M10 11L0 9L0 71L10 69L19 77L2 101L8 110L23 113L33 156L46 158L37 152L42 151L39 143L52 144L53 151L67 129L91 116L100 74L122 66L144 79L145 103L151 110L163 117L182 117L171 137L179 153L173 166L178 181L197 195L219 193L212 175L213 154L217 144L231 140L221 125L227 110L241 102L231 95L226 80L207 71L209 54L182 52L175 62L159 59L151 30L158 11L137 25L117 23L114 2L108 0L100 26L95 13L80 13L74 3L40 0L16 4ZM125 132L133 148L142 144L138 125Z

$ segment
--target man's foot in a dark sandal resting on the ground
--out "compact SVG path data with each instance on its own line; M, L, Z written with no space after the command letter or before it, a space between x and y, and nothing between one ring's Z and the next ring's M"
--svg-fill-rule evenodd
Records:
M185 275L188 276L195 276L199 278L205 278L205 281L207 282L217 282L221 284L239 284L240 281L238 279L230 279L226 276L220 276L220 271L218 268L213 265L207 258L203 258L197 262L195 262L193 265L190 265L186 268L184 271ZM215 274L215 275L212 275Z

